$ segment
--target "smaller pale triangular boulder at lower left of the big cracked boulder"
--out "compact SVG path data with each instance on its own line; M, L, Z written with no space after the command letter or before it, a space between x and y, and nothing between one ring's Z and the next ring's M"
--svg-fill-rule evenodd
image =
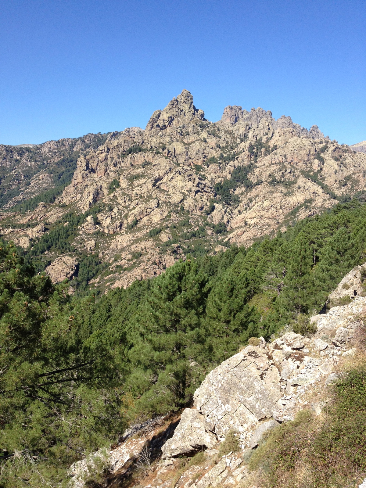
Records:
M173 437L162 447L163 459L187 454L203 447L211 448L216 444L217 439L206 428L203 415L196 409L186 408Z

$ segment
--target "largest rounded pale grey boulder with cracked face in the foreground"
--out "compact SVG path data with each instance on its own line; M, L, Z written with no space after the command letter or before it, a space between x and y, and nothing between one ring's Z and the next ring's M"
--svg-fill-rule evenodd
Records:
M228 430L271 417L281 398L280 374L264 349L247 346L213 369L194 393L194 405L220 438Z

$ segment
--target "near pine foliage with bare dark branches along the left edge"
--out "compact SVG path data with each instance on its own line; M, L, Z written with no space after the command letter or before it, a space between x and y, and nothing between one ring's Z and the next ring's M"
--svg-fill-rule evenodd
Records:
M122 432L121 337L93 326L92 298L73 301L14 245L1 244L0 266L1 486L56 486Z

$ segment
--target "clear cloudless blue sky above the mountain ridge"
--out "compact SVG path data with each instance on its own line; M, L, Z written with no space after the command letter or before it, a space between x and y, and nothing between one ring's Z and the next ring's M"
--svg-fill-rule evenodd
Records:
M0 143L145 127L183 88L366 139L365 0L2 0Z

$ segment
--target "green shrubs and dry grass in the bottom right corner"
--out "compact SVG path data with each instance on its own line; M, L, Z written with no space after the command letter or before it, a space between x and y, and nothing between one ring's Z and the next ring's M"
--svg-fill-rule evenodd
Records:
M333 388L322 425L309 410L300 410L256 449L248 469L262 469L265 486L344 488L364 478L366 371L350 371Z

